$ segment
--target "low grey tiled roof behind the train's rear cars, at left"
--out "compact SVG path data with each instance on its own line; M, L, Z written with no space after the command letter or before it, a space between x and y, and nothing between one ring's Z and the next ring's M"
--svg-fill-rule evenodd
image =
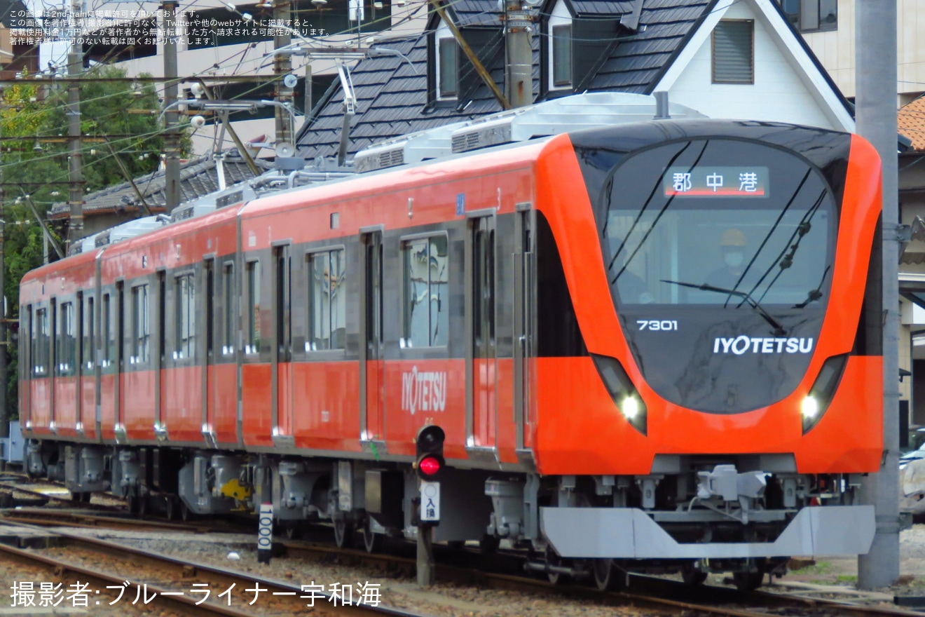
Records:
M261 171L269 168L258 159ZM209 193L253 179L253 171L237 150L228 150L220 158L205 154L182 163L180 166L180 203L188 202ZM83 202L83 236L91 236L104 229L115 227L139 216L166 212L164 170L122 182L100 191L89 193ZM52 204L48 210L50 220L68 220L67 203Z

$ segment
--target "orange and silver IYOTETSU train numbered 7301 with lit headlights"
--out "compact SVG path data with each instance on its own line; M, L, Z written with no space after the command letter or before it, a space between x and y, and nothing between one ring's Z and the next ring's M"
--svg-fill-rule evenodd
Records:
M23 278L28 469L373 550L438 426L433 538L552 578L864 553L880 193L854 135L660 120L231 204Z

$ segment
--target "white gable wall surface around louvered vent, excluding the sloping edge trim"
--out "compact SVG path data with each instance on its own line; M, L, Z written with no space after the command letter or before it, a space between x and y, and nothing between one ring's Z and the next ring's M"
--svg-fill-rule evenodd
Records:
M673 102L693 107L709 117L776 120L836 128L748 3L737 2L730 6L722 19L755 21L755 83L712 83L710 36L669 90Z

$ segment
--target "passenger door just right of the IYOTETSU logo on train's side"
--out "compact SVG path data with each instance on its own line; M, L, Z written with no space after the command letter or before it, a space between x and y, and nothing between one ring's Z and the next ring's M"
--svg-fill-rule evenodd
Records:
M466 445L495 447L497 354L495 345L495 216L472 213L466 242L467 338L471 354L466 366Z

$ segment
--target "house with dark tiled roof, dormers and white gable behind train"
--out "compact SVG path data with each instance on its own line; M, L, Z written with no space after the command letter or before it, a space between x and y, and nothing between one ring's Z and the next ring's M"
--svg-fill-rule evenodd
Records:
M506 40L497 0L452 0L444 14L503 91ZM854 128L851 105L771 0L546 0L531 30L535 103L663 91L708 117ZM502 110L437 13L422 34L377 46L392 53L351 68L348 155ZM299 154L338 153L343 108L335 83L300 132Z

